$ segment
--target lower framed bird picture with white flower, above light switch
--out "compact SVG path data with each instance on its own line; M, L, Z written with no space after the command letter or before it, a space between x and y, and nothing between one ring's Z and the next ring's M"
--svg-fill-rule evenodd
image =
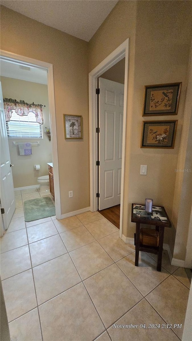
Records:
M177 120L143 121L141 148L174 148Z

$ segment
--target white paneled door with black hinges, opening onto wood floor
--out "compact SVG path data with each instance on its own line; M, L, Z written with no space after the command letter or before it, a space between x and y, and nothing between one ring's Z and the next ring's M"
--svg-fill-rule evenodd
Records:
M99 78L99 210L121 201L124 84Z

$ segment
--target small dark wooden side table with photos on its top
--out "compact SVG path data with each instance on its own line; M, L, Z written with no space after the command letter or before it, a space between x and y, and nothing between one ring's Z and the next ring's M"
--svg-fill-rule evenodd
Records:
M136 223L135 266L138 266L139 263L139 251L145 251L157 254L157 271L161 271L164 227L171 227L164 207L153 206L152 213L147 213L145 205L132 204L131 221ZM155 226L156 231L159 232L159 246L148 246L140 243L140 224Z

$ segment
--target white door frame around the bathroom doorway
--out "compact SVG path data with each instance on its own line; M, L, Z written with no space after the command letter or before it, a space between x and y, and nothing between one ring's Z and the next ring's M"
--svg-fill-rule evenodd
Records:
M20 56L15 53L0 50L2 60L17 62L26 66L35 66L39 69L47 71L47 88L49 98L50 111L50 128L51 128L51 148L54 164L54 191L55 191L55 212L56 219L61 219L61 203L60 203L60 188L59 188L59 169L58 169L58 150L57 150L57 129L56 129L56 113L55 113L55 93L54 93L54 78L53 64L46 63L37 59L32 59L25 56Z

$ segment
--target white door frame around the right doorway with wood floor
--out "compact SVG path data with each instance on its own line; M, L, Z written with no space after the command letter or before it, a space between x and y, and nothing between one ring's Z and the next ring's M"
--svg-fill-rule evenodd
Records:
M97 211L97 78L113 65L125 57L125 83L123 106L123 142L122 142L122 173L121 173L121 208L120 208L120 238L122 238L124 174L125 174L125 139L127 121L127 90L128 90L128 57L129 38L116 48L107 58L89 73L89 121L90 121L90 207L91 211Z

